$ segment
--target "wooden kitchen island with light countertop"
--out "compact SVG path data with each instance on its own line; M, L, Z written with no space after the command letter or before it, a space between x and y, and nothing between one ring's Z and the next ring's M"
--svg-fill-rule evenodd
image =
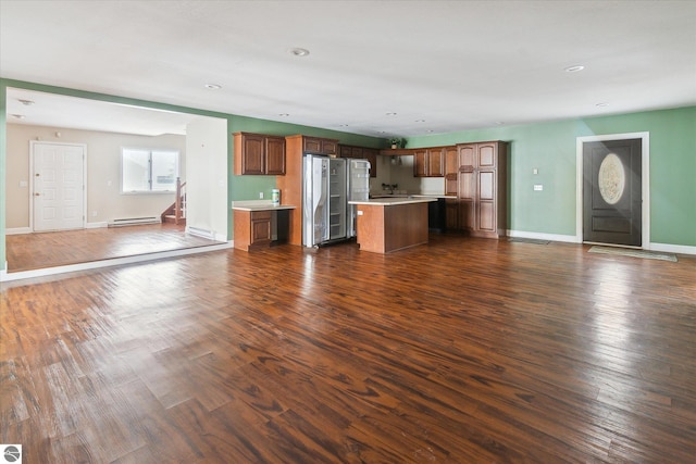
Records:
M375 198L349 201L357 208L360 250L389 253L427 243L427 204L434 198Z

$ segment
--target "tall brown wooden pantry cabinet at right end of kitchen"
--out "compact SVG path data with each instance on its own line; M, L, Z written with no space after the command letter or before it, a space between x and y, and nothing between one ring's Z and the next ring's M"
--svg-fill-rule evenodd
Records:
M459 228L473 237L499 238L508 226L508 143L457 146Z

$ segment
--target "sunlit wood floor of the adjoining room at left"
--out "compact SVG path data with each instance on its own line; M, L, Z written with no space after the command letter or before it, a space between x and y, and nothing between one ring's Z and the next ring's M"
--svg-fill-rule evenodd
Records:
M161 251L206 247L217 241L185 233L175 224L102 227L5 237L8 271L30 271Z

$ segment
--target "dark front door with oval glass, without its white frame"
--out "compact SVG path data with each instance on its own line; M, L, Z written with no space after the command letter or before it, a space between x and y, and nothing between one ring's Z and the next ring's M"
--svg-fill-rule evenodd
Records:
M583 143L583 241L642 246L641 139Z

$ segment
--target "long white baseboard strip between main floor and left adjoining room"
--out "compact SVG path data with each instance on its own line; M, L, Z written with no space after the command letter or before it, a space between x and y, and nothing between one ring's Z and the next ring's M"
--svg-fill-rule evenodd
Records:
M101 267L121 266L125 264L144 263L148 261L157 261L166 258L185 256L188 254L208 253L210 251L227 250L233 247L232 242L211 244L207 247L187 248L184 250L162 251L158 253L138 254L135 256L114 258L112 260L92 261L89 263L70 264L65 266L46 267L42 269L21 271L16 273L8 272L8 263L4 269L0 271L0 281L22 280L35 277L46 277L57 274L75 273L80 271L90 271Z

